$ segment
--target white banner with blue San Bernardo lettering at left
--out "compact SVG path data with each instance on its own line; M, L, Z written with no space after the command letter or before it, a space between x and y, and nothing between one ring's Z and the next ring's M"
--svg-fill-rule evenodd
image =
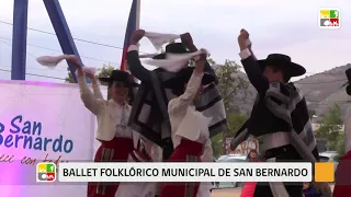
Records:
M0 81L0 92L1 196L86 196L87 184L35 182L38 162L93 159L95 117L82 104L78 85Z

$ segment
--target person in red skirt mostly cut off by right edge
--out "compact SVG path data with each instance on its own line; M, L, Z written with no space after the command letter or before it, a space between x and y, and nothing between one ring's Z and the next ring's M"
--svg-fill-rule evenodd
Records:
M346 71L349 80L347 93L351 95L351 69ZM351 194L351 107L348 108L344 118L344 155L340 159L336 174L333 197L343 197Z

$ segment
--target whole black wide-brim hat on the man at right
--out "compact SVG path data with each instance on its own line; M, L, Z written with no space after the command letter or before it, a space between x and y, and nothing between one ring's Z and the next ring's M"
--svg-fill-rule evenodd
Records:
M292 61L292 59L283 54L271 54L267 59L258 60L260 68L264 71L265 66L275 66L282 68L290 77L298 77L306 73L306 69Z

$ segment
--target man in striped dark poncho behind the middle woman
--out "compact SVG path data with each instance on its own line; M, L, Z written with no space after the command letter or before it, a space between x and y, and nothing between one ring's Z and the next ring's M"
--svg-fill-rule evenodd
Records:
M150 141L162 148L163 161L173 151L171 140L171 127L167 112L168 102L173 95L165 88L166 82L177 76L162 68L152 71L147 70L140 63L138 55L138 42L144 37L145 31L138 30L132 36L132 45L128 48L127 61L133 76L141 81L136 100L133 103L131 126ZM181 35L182 43L172 43L166 46L166 53L186 54L197 51L189 33ZM166 54L155 56L154 59L165 59ZM205 61L205 71L211 73L217 82L216 74L210 63ZM184 65L186 66L186 65ZM216 85L208 85L203 94L203 101L196 104L201 111L216 116L210 129L211 136L227 129L225 109L219 91Z

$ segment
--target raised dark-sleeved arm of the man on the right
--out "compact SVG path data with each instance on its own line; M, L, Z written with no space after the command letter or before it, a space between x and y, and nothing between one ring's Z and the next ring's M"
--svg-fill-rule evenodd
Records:
M250 83L256 88L258 92L264 92L269 89L269 81L263 76L259 63L253 56L251 45L247 46L246 40L249 38L249 33L246 30L241 30L238 36L238 43L240 47L240 58L242 67L248 74Z

